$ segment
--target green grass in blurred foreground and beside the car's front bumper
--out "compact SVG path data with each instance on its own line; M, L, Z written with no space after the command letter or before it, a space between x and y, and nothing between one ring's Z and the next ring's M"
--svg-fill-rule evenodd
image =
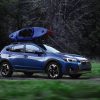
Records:
M92 62L92 66L92 73L87 76L100 77L100 63ZM100 100L100 81L88 79L0 80L0 100L87 99Z

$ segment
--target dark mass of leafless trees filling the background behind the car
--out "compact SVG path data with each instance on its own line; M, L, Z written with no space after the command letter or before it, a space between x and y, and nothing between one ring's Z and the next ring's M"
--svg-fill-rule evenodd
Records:
M100 0L0 0L1 44L33 26L51 29L48 43L62 51L100 56Z

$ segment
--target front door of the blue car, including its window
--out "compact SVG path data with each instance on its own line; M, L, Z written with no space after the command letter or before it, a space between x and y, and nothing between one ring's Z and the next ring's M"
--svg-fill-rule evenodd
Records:
M26 44L25 59L28 69L42 70L45 54L34 44Z

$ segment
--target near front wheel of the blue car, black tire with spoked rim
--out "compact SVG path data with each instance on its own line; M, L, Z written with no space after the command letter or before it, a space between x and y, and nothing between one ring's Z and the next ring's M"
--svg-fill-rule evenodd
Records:
M61 66L57 62L50 62L47 65L47 74L50 79L62 78Z

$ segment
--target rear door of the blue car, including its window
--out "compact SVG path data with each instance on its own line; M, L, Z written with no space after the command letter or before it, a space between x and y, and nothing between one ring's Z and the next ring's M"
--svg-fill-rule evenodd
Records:
M23 44L17 44L15 46L12 46L9 59L11 60L11 63L15 69L26 68L24 51L25 49Z

